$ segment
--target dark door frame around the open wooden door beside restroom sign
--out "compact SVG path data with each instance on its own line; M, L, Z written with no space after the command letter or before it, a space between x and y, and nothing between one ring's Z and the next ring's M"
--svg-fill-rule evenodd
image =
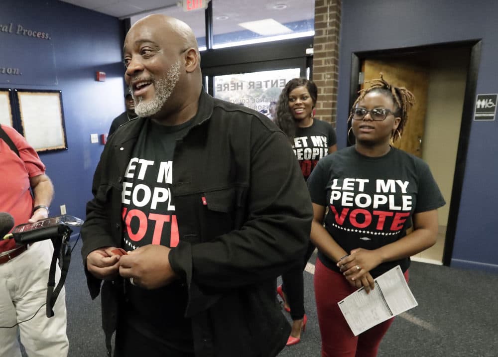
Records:
M358 86L360 79L361 63L366 58L381 59L392 55L407 55L410 53L420 53L435 49L449 49L455 47L467 47L470 51L469 68L467 72L467 82L465 85L464 105L462 111L462 121L460 124L460 134L458 139L457 158L455 173L453 177L453 187L451 190L451 202L448 216L448 226L443 251L443 264L449 266L453 255L453 245L457 230L457 219L460 211L460 201L462 198L462 188L465 175L465 164L467 161L467 151L469 149L469 133L474 115L474 103L476 99L476 87L479 74L479 63L481 62L482 40L467 40L449 43L432 44L425 46L393 48L377 51L353 52L351 56L351 79L349 108L353 107L358 98ZM349 128L348 128L349 129Z

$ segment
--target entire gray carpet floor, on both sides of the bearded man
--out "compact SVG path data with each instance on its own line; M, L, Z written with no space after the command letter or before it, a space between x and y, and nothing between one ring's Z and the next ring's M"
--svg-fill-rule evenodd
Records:
M69 356L104 357L100 298L90 299L80 247L74 249L66 281ZM320 356L313 275L304 274L308 325L301 343L279 357ZM497 274L412 262L409 285L419 306L395 319L379 357L498 356Z

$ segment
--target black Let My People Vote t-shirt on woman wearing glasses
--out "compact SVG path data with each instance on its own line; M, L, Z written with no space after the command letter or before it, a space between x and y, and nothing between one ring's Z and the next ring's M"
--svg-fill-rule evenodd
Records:
M328 207L325 228L348 253L376 249L406 235L414 213L444 206L445 201L429 166L421 159L391 147L381 157L367 157L347 147L321 160L308 178L311 201ZM336 263L319 252L320 260L337 272ZM375 278L410 259L382 263Z

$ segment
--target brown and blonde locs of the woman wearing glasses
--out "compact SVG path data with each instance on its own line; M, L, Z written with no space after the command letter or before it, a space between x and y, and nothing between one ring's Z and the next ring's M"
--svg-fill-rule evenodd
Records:
M389 84L382 77L382 73L380 73L379 79L373 79L371 81L367 81L366 84L370 84L369 88L364 88L359 91L359 97L353 104L353 108L351 110L351 114L349 116L349 121L353 118L353 109L356 108L359 102L365 98L365 96L371 92L379 92L383 93L387 96L390 96L392 102L395 106L394 116L399 117L401 120L399 121L398 128L392 132L391 139L392 141L396 141L396 139L400 139L403 134L403 128L406 124L406 120L408 120L408 111L415 104L415 96L407 90L405 87L395 87ZM349 139L349 132L348 132Z

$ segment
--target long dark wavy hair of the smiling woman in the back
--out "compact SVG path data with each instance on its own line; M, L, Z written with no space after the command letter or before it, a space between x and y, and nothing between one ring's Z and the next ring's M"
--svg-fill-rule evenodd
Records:
M316 105L318 98L318 88L313 81L306 78L293 78L282 89L278 97L275 124L282 130L285 135L292 141L296 132L296 121L289 109L289 93L297 87L306 87L310 94L313 106ZM292 141L293 142L293 141Z

